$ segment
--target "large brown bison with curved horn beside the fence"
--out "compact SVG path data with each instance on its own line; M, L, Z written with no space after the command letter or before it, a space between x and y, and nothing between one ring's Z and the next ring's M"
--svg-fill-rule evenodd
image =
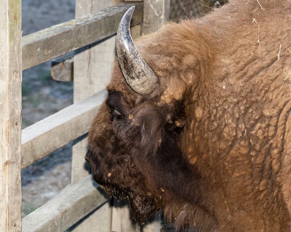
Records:
M135 44L133 11L88 135L94 180L139 223L291 231L291 1L229 0Z

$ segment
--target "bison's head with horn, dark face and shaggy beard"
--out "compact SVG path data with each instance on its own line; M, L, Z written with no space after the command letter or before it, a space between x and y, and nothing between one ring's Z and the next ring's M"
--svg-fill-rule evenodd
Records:
M161 74L150 67L155 64L147 65L142 58L129 31L133 10L119 25L119 66L116 61L108 98L89 132L85 159L100 186L110 196L129 199L133 217L143 223L167 207L165 199L195 201L199 196L192 188L199 178L179 147L185 124L184 85L175 92L165 89Z

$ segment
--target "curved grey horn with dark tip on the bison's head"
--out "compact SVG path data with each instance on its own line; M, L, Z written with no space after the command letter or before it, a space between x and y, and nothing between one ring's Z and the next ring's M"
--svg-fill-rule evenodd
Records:
M133 43L130 34L130 19L134 8L134 6L130 7L120 21L116 35L117 58L130 88L140 95L145 95L156 87L158 78L155 72L147 66Z

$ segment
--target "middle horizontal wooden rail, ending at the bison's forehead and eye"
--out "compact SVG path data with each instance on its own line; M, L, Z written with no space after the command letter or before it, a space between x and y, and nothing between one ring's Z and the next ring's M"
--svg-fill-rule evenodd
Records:
M102 90L23 129L21 168L87 133L106 94Z

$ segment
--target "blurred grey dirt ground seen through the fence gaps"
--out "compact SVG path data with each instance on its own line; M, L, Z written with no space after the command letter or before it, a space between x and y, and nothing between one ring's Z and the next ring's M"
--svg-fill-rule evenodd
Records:
M22 0L23 35L75 17L75 0ZM22 129L73 103L73 83L55 82L50 62L23 71ZM22 215L28 215L70 183L72 143L24 168Z

